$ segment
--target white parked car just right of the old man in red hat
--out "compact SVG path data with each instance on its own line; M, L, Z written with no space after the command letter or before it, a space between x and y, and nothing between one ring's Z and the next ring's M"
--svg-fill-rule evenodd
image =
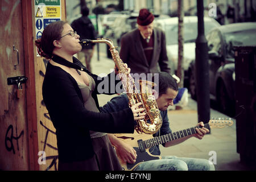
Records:
M189 63L195 59L195 40L197 38L197 16L184 16L184 84L188 81ZM155 26L162 28L166 33L167 56L171 67L171 74L176 74L178 63L178 18L158 19ZM220 24L213 18L204 18L204 29L207 34L212 28L219 27ZM184 86L187 86L186 84Z

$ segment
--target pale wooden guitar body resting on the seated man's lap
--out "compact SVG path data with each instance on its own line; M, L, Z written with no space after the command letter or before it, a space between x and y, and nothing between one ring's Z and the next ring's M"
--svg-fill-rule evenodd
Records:
M161 156L152 155L149 152L149 148L146 148L145 151L139 150L138 140L147 140L153 138L152 135L148 134L138 134L137 131L134 131L134 134L114 134L115 137L123 140L123 142L130 144L137 152L137 159L134 164L129 164L127 162L123 162L119 155L117 155L119 162L124 171L131 171L135 167L137 167L142 162L146 162L148 160L161 159Z

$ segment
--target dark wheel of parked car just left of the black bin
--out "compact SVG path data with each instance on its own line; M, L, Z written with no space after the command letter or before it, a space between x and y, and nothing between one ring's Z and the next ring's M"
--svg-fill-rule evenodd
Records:
M220 110L224 114L233 114L234 104L230 100L228 92L226 91L226 86L223 81L220 81L217 86L217 104L220 107Z

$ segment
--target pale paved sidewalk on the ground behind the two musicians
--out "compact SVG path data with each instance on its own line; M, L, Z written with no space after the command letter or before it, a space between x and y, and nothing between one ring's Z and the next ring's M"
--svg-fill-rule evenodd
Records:
M114 68L114 61L106 58L105 53L100 53L100 61L97 60L97 51L92 59L92 72L96 75L100 73L110 73ZM116 96L116 95L114 95ZM98 96L100 106L106 104L112 97L101 94ZM179 131L193 127L197 124L197 103L189 96L188 106L182 110L168 110L170 126L172 131ZM210 118L229 118L216 110L210 109ZM216 155L216 171L241 171L248 170L240 163L240 155L237 153L236 143L236 119L232 118L233 126L222 129L213 128L210 134L205 135L202 140L195 137L186 140L176 146L165 148L160 146L162 156L176 155L188 158L210 159L214 163L213 155Z

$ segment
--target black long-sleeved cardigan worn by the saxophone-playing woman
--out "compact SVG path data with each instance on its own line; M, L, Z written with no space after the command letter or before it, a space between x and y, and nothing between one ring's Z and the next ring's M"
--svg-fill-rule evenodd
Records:
M75 57L73 63L82 65ZM108 80L110 83L110 74L100 80L97 79L98 76L87 70L86 72L96 82L92 97L99 107L97 86L101 81ZM43 81L43 100L56 129L59 160L62 162L92 158L94 151L89 130L105 133L134 132L134 118L130 108L116 113L95 113L86 110L76 80L60 67L50 63L47 65Z

